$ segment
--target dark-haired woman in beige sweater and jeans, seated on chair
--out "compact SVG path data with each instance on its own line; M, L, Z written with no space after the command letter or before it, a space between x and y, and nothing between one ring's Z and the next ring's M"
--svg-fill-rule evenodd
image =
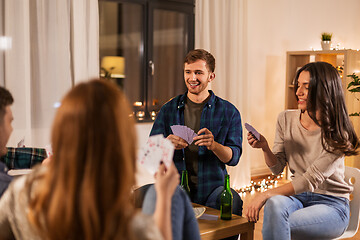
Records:
M348 117L341 79L325 62L306 64L296 74L298 110L278 117L273 151L264 136L248 142L261 148L274 174L286 164L292 181L261 193L244 210L259 219L265 204L263 239L332 239L349 222L344 156L356 155L359 139Z

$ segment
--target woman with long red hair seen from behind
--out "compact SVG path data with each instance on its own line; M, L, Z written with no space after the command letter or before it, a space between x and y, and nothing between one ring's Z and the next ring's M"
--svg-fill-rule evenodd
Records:
M172 239L179 175L174 165L161 164L154 215L135 210L136 132L120 89L101 80L73 88L56 113L51 142L51 161L14 181L1 198L0 239ZM182 199L179 205L190 205Z

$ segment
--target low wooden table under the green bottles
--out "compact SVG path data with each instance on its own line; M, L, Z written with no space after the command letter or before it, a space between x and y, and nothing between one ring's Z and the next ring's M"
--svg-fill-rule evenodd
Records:
M204 207L202 205L193 203L193 207ZM237 234L240 235L241 240L253 240L254 228L253 222L248 222L246 218L233 214L231 220L221 220L220 211L206 207L205 214L217 215L218 220L203 220L198 219L200 236L202 240L222 239Z

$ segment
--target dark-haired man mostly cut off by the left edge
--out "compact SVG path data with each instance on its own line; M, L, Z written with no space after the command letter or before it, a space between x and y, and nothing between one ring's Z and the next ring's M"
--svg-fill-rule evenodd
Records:
M12 133L11 123L13 115L11 104L14 102L11 93L3 87L0 87L0 156L7 152L6 144ZM0 162L0 197L10 184L12 177L6 174L6 166Z

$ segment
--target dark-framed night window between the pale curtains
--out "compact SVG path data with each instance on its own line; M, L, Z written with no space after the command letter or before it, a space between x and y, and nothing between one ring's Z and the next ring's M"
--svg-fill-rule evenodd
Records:
M194 47L193 0L100 0L100 61L138 121L184 93L183 61Z

